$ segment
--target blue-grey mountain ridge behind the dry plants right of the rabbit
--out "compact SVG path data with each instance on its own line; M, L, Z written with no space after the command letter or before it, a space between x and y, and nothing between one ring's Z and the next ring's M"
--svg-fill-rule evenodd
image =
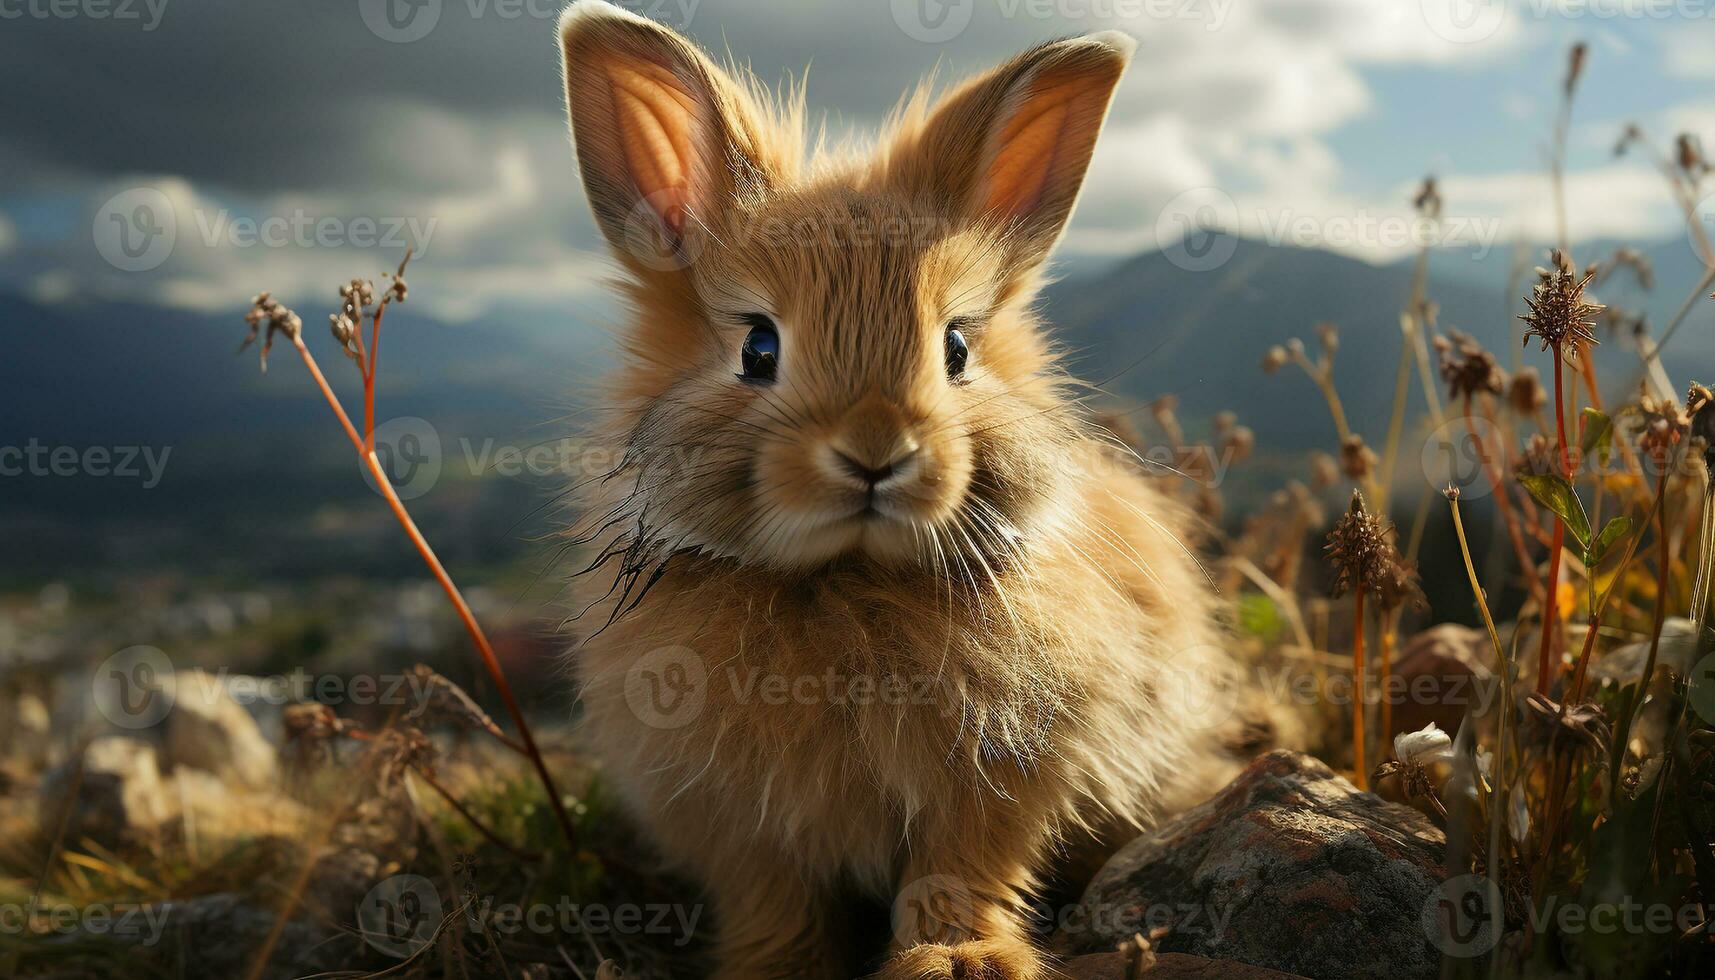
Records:
M1664 247L1670 254L1670 245ZM1506 264L1499 273L1430 266L1429 295L1441 305L1441 324L1471 333L1511 364L1516 328L1506 309ZM1456 268L1456 263L1454 263ZM1677 269L1676 278L1686 278ZM1499 278L1495 278L1499 276ZM1074 367L1086 381L1149 400L1178 395L1182 415L1238 412L1255 429L1259 445L1274 451L1326 448L1333 424L1321 396L1297 369L1279 376L1261 371L1264 352L1291 336L1314 350L1315 324L1341 328L1336 379L1353 426L1379 433L1393 407L1399 355L1399 309L1410 293L1411 266L1372 266L1333 252L1238 240L1233 257L1211 271L1185 271L1161 252L1146 252L1089 278L1072 276L1048 290L1046 309L1074 350ZM1669 305L1694 278L1662 283ZM1681 330L1669 352L1669 371L1715 378L1710 343L1715 302ZM1619 386L1636 355L1610 342L1602 352L1607 378ZM1540 354L1526 364L1545 369ZM1413 378L1411 410L1422 410Z

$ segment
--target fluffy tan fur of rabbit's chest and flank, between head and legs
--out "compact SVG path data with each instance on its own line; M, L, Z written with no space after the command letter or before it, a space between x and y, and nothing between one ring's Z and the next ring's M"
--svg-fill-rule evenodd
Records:
M679 561L580 649L587 738L671 836L878 884L930 824L1146 820L1221 662L1206 585L1151 517L1171 508L1128 474L1087 487L1010 561Z

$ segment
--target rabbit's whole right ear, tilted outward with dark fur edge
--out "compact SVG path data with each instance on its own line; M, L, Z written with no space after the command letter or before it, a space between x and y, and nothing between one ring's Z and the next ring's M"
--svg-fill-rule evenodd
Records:
M1036 46L948 94L890 154L897 180L1008 225L1014 257L1048 257L1077 203L1113 89L1137 48L1103 31Z

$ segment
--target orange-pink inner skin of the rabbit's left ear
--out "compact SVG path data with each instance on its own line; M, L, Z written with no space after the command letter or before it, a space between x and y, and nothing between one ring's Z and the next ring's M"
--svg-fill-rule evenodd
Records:
M614 130L638 196L674 235L691 206L696 117L691 98L671 81L629 65L607 65Z

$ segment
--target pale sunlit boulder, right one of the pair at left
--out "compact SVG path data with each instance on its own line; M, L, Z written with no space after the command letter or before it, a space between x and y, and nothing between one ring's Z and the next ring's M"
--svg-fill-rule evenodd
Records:
M166 757L175 767L201 769L250 788L273 786L280 776L274 747L262 738L256 719L233 700L223 678L208 671L175 675Z

